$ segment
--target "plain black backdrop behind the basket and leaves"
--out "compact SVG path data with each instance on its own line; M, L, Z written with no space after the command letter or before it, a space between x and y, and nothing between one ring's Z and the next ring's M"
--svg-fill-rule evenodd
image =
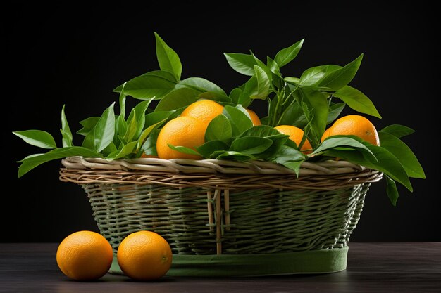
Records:
M153 32L178 52L182 77L204 77L230 91L247 78L233 71L223 52L275 56L280 48L306 38L296 60L282 69L299 76L308 67L344 65L364 53L352 86L373 100L382 129L405 124L416 133L405 138L426 171L413 180L414 193L401 186L397 207L385 182L373 185L352 241L440 241L439 48L435 47L435 8L348 4L266 6L236 2L159 7L18 5L4 11L2 25L3 98L1 136L4 166L1 242L59 242L77 230L97 230L80 186L58 181L59 161L16 178L18 159L40 150L11 131L42 129L61 143L60 111L66 104L70 129L100 115L118 99L112 89L158 69ZM208 2L207 2L208 3ZM188 6L187 6L188 5ZM208 5L208 4L207 4ZM42 12L43 11L43 12ZM7 20L6 20L7 19ZM253 107L254 106L254 107ZM260 105L261 106L261 105ZM260 116L263 108L251 106ZM347 110L347 113L350 111ZM346 113L346 114L347 114ZM2 118L3 119L3 118ZM80 137L74 143L80 144Z

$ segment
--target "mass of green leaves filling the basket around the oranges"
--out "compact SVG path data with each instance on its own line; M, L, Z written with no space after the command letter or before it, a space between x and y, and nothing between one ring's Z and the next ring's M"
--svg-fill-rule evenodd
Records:
M385 174L387 196L397 203L400 183L412 190L409 178L426 178L421 164L411 149L401 140L414 131L394 124L379 131L380 146L371 145L356 136L332 136L321 142L327 125L337 119L347 105L356 112L381 118L378 110L364 93L349 86L359 70L363 54L347 65L319 65L303 71L300 77L284 76L282 70L299 54L304 40L283 48L266 63L253 52L224 53L233 70L249 77L227 94L220 86L202 77L182 77L178 54L159 34L156 56L159 70L134 77L114 89L119 93L119 114L112 103L101 116L87 117L76 134L82 136L81 146L74 137L65 113L61 110L61 148L46 131L14 131L26 143L49 149L29 155L19 161L18 176L53 159L70 156L130 159L143 153L157 155L156 139L161 127L182 110L199 99L215 100L224 105L221 115L207 126L205 143L196 150L182 145L168 145L173 150L206 159L236 161L264 160L282 164L299 174L302 162L325 159L344 159ZM126 111L126 99L139 100ZM268 103L268 116L261 126L253 126L246 108L254 100ZM153 100L159 100L150 108ZM126 112L128 117L126 118ZM273 127L292 125L304 129L299 146ZM305 155L299 150L308 139L313 152Z

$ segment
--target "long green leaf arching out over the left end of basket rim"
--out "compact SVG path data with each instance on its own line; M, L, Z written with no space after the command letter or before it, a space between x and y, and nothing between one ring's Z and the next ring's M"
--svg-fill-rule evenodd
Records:
M56 148L42 155L37 155L33 157L26 157L23 159L22 164L18 168L18 177L25 175L30 170L35 167L49 162L53 159L63 159L65 157L82 156L82 157L101 157L98 152L89 150L88 148L82 148L79 146L72 146L66 148Z

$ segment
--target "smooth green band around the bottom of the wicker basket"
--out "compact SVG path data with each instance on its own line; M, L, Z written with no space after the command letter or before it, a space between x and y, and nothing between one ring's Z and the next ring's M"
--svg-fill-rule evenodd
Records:
M347 265L348 247L278 254L174 254L167 275L225 277L334 273ZM109 273L122 271L116 257Z

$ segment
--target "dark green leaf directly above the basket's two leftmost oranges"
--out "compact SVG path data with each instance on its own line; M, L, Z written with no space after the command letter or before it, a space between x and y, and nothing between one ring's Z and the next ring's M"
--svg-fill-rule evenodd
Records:
M197 91L194 91L194 89L175 89L159 101L154 112L177 110L179 108L187 107L197 101L197 95L198 93Z

